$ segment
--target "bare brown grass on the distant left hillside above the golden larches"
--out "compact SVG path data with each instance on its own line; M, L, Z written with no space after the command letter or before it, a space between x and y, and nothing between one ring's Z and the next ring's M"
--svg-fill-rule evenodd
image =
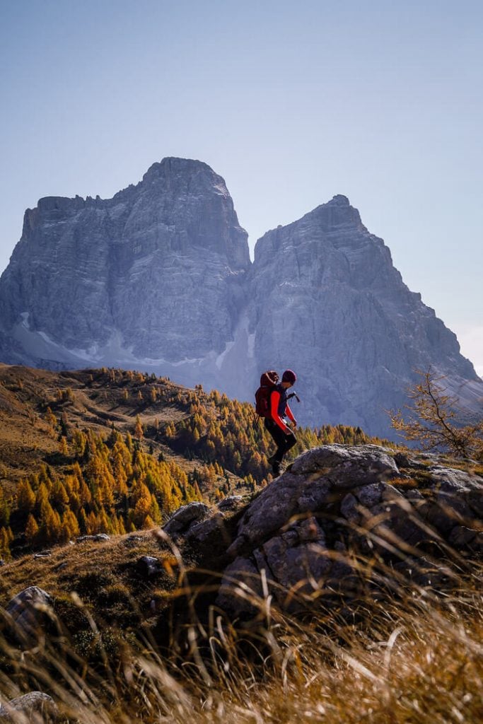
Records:
M173 390L183 389L167 384ZM128 403L122 399L125 389L129 391ZM59 452L58 435L46 421L47 406L57 417L66 413L70 429L91 429L104 437L111 432L112 423L122 433L133 433L136 415L146 426L153 425L156 418L163 424L188 416L161 402L145 400L138 405L135 389L136 383L129 381L110 385L101 370L51 372L0 363L0 482L4 492L13 492L20 479L37 473L41 463ZM64 398L59 400L62 393ZM162 452L183 469L193 469L193 463L182 455L159 442L150 442L156 456ZM59 462L54 466L63 467Z

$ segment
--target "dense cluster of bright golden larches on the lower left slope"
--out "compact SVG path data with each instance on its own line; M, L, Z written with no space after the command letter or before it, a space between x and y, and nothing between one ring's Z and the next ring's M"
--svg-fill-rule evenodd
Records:
M15 534L31 547L67 542L81 534L123 534L152 528L162 513L202 500L198 482L172 461L158 460L128 432L107 439L75 430L61 439L75 458L62 471L41 465L20 481L12 500L0 501L0 555L8 558ZM12 532L14 531L14 532Z

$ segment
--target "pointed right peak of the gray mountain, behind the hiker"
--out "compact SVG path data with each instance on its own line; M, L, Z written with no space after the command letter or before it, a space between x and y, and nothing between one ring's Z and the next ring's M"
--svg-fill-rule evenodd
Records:
M311 424L385 434L385 410L405 401L414 369L433 366L454 386L478 379L455 334L408 290L345 196L267 232L251 284L255 358L260 368L297 371Z

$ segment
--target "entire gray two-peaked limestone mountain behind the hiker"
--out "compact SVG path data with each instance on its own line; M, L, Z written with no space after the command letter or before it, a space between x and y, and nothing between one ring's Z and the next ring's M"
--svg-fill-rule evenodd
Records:
M345 196L267 232L251 264L224 180L164 159L114 198L43 198L0 279L0 360L118 366L253 400L298 374L303 424L390 434L414 369L481 410L453 332L408 290Z

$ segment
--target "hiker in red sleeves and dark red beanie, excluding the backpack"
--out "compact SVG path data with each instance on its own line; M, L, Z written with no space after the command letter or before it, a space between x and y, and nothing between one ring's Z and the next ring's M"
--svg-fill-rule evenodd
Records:
M294 428L297 421L293 416L293 412L287 403L287 390L293 387L297 376L291 369L286 369L282 374L282 382L276 384L272 388L269 397L269 415L265 417L265 427L272 435L274 442L277 444L277 450L268 458L274 476L280 475L280 465L283 457L297 442L295 435L287 424L285 424L285 416L292 422Z

